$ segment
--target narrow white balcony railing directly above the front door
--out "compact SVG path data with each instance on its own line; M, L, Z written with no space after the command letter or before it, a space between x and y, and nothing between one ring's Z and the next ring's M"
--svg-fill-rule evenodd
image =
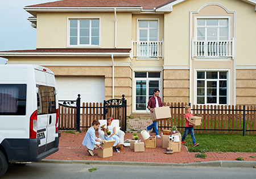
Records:
M163 41L133 41L133 56L163 58Z

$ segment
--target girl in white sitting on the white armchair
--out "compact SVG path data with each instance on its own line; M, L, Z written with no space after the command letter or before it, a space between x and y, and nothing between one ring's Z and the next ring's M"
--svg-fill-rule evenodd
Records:
M115 152L118 152L117 144L119 143L120 139L117 135L115 135L115 126L112 124L112 117L107 118L107 125L104 126L104 132L105 132L105 140L115 140L115 143L113 145L113 150ZM108 136L107 131L110 131L111 134Z

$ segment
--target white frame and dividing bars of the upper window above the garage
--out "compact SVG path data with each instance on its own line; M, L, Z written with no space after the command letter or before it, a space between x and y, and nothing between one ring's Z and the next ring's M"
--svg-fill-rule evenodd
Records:
M90 20L90 24L91 24L91 20L93 19L98 19L99 20L99 37L98 37L98 45L92 45L92 44L79 44L79 28L78 28L78 32L77 32L77 45L71 45L70 44L70 20ZM90 36L89 39L91 41L91 30L92 27L90 26ZM67 47L73 47L73 48L100 48L101 47L101 18L100 17L67 17Z

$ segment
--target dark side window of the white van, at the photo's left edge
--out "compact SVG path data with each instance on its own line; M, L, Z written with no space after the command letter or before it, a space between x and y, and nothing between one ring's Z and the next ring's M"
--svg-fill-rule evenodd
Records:
M26 84L0 84L0 115L26 115Z

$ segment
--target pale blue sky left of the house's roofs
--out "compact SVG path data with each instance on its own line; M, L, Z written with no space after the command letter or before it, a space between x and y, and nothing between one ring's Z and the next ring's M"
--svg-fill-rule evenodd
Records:
M27 20L32 15L23 7L52 1L0 0L0 51L36 49L36 28ZM0 57L0 64L5 63Z

